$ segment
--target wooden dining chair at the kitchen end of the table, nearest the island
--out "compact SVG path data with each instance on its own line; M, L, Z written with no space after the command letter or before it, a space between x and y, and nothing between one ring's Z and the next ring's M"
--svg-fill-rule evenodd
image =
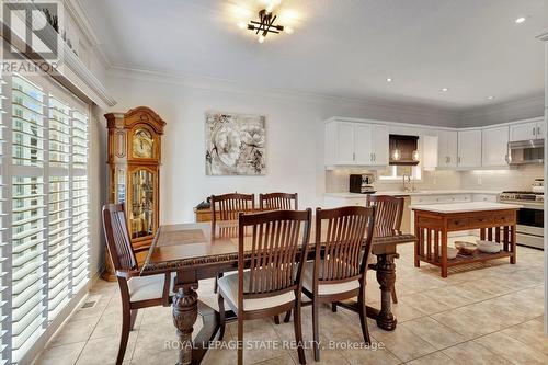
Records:
M403 216L402 197L395 197L390 195L370 195L367 199L368 206L375 206L375 229L373 235L392 236L401 235L401 218ZM375 269L375 264L370 265ZM390 288L392 303L398 303L398 295L396 294L396 286Z

